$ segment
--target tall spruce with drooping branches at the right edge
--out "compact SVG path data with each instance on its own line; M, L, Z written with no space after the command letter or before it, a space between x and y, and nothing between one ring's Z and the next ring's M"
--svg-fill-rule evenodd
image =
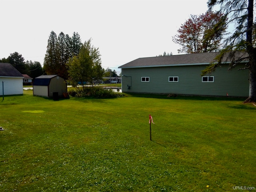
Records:
M235 24L234 32L225 40L224 48L216 57L217 63L212 63L202 75L215 70L225 58L231 58L230 69L240 62L245 62L243 70L249 70L250 90L246 102L256 102L256 45L255 20L253 13L256 8L254 0L209 0L208 7L215 6L228 18L228 24ZM214 29L215 30L215 29Z

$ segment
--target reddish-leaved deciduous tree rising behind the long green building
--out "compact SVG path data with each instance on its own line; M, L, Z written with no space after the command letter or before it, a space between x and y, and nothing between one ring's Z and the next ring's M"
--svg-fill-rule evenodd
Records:
M181 46L178 52L190 54L217 51L226 30L225 21L226 17L220 12L191 15L172 40ZM216 30L212 31L213 28Z

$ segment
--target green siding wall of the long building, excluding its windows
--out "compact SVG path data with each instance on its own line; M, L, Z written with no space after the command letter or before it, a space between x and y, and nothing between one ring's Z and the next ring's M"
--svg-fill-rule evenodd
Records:
M123 68L122 91L156 94L188 94L209 96L249 96L249 71L228 70L228 65L216 68L206 76L214 76L214 82L202 82L201 71L206 65ZM130 77L129 77L130 76ZM149 77L149 82L142 82ZM178 77L178 82L169 82L169 77ZM132 82L131 82L132 80ZM128 85L132 85L128 89Z

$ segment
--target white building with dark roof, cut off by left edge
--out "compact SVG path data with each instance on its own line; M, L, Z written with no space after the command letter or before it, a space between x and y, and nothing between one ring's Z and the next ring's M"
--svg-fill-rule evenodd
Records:
M23 94L23 78L12 64L0 63L0 95Z

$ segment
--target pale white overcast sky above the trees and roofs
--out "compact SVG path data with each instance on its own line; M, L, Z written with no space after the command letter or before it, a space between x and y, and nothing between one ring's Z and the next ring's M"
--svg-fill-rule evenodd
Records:
M82 42L92 38L102 67L116 70L141 57L178 54L172 42L190 14L207 11L207 0L0 0L0 58L22 54L43 65L53 30Z

